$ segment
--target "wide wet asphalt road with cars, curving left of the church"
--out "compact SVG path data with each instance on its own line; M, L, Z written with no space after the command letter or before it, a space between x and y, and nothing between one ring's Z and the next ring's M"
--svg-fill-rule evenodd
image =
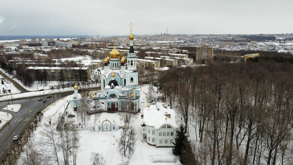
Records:
M61 93L61 98L71 94L73 94L73 91ZM47 106L51 105L50 98L42 97L47 99ZM9 148L13 147L14 142L12 138L16 135L21 135L25 130L26 124L30 123L35 113L42 111L46 107L46 103L38 101L38 98L39 96L0 102L0 111L2 112L7 112L7 110L2 110L2 108L6 107L6 103L9 105L21 104L21 109L17 113L9 111L12 115L12 120L0 131L0 161L8 151L8 142ZM52 103L59 99L59 93L52 95ZM29 110L32 110L32 112L29 112Z

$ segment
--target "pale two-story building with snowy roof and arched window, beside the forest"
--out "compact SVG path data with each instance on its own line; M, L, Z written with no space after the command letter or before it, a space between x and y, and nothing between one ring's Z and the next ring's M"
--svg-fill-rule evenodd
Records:
M176 113L163 103L148 105L141 111L142 142L156 147L173 147L176 129Z

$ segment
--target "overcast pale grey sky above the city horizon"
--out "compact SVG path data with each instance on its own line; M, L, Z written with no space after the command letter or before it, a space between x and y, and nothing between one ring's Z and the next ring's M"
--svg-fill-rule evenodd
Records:
M292 0L9 0L0 35L293 33Z

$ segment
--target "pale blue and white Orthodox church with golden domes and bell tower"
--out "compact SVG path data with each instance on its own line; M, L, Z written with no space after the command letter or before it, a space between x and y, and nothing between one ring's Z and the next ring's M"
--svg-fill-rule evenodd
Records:
M137 58L133 48L132 28L130 29L130 50L127 59L124 56L120 58L120 53L116 50L114 41L110 58L105 58L104 70L101 70L102 92L96 98L93 94L90 96L93 100L99 100L107 111L140 110ZM126 63L127 69L125 68Z

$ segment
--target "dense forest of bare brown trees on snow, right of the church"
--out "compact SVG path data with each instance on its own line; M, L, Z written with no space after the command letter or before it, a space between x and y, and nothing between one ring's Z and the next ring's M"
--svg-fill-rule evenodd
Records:
M192 141L193 164L293 164L293 65L211 64L160 75Z

